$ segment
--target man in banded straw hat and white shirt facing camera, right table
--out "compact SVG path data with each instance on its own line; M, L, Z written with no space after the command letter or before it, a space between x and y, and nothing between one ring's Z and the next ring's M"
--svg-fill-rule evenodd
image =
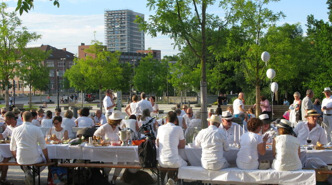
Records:
M316 145L317 141L320 141L322 144L328 143L324 129L317 124L317 116L319 115L315 109L308 110L306 115L308 121L299 122L296 125L294 133L297 135L300 144L308 144L307 139L310 139L311 144L314 145Z

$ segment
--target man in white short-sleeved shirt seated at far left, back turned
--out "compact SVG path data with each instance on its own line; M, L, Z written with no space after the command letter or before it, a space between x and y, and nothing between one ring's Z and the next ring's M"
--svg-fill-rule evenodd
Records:
M13 130L10 140L10 150L17 163L20 165L30 165L42 162L51 162L48 155L47 145L44 135L40 128L32 125L32 115L29 111L25 111L22 115L23 124ZM38 143L43 151L43 155L39 153ZM26 175L26 180L32 184L32 173L27 166L22 166Z

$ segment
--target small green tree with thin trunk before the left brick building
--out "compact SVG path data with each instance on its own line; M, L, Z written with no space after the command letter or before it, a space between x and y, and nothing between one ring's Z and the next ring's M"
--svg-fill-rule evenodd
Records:
M22 52L24 55L20 59L20 68L17 72L23 85L29 87L29 107L31 108L32 88L43 87L49 83L49 69L44 67L43 60L48 58L50 52L38 48L28 48Z

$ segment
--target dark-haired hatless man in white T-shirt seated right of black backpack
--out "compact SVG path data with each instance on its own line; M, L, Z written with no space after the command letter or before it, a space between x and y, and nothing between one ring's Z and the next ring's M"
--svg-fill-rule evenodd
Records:
M184 139L182 128L177 125L177 117L173 111L167 113L166 124L158 129L156 144L159 147L159 165L163 168L180 168L186 166L181 156L178 154L178 148L184 148L186 141ZM174 185L177 179L177 171L162 171L162 179L165 179L168 173L168 183ZM164 178L163 178L164 177Z

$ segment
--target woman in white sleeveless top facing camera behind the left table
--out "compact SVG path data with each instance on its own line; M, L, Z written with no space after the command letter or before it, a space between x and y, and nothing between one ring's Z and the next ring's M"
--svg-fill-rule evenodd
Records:
M56 141L62 142L62 140L67 140L68 138L68 131L61 127L62 117L55 116L53 118L53 127L50 129L48 135L50 135L49 141Z

